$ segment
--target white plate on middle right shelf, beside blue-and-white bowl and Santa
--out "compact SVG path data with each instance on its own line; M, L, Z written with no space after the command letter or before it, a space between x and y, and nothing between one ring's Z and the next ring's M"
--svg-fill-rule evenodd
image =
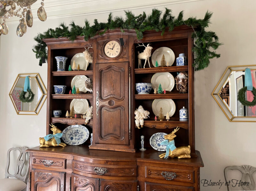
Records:
M175 85L174 77L169 72L159 72L155 73L151 78L151 84L153 90L158 89L159 84L162 86L162 90L164 91L172 91ZM79 89L80 90L80 89Z

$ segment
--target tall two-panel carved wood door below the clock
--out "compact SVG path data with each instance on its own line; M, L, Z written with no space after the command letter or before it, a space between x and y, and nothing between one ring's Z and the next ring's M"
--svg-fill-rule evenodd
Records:
M129 145L129 62L96 63L95 144Z

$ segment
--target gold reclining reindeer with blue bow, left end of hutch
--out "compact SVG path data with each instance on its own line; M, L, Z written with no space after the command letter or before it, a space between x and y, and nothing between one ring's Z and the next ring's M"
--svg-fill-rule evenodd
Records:
M39 137L40 147L65 147L65 143L60 143L60 138L62 136L62 131L58 129L55 125L49 124L52 128L52 134L46 135L45 137Z

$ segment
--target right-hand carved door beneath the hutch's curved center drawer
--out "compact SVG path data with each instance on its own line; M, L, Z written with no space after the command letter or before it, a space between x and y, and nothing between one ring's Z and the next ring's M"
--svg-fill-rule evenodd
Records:
M100 191L136 191L137 180L103 180L100 179Z

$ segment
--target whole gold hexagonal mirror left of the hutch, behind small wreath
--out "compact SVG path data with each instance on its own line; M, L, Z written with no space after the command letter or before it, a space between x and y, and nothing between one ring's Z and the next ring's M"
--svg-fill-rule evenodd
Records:
M31 102L24 102L20 100L20 94L23 91L25 78L28 76L30 89L35 94ZM47 90L38 73L32 74L18 74L12 89L9 93L12 104L18 115L38 115L45 99L47 97Z

